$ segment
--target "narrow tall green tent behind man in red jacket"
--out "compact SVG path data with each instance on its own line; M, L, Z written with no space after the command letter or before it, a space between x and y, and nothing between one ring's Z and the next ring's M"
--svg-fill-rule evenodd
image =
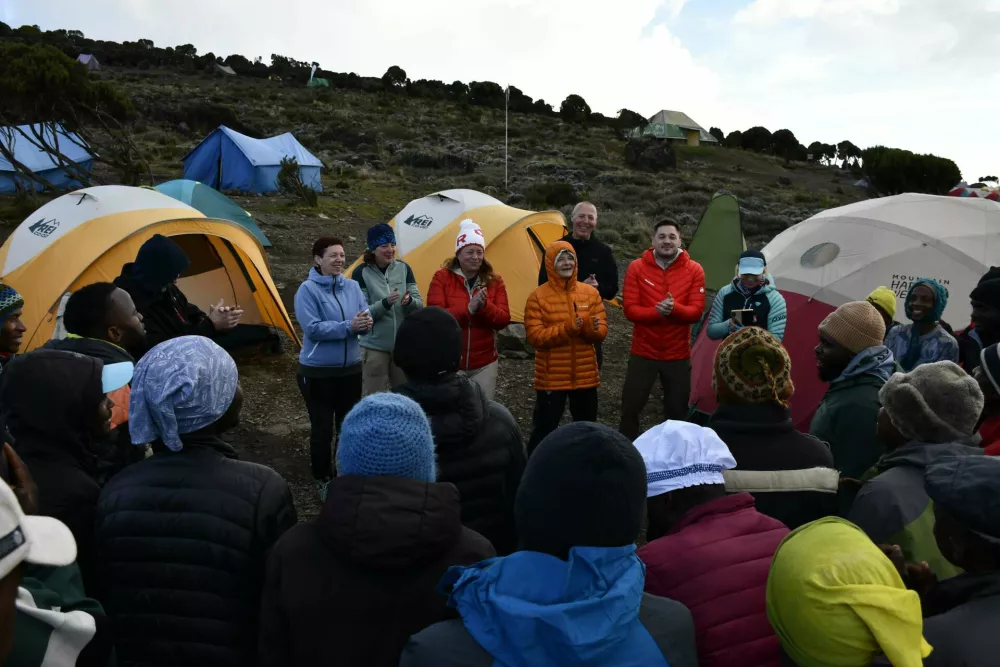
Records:
M688 253L705 269L705 289L718 292L736 275L743 238L743 212L731 194L717 194L698 221Z

